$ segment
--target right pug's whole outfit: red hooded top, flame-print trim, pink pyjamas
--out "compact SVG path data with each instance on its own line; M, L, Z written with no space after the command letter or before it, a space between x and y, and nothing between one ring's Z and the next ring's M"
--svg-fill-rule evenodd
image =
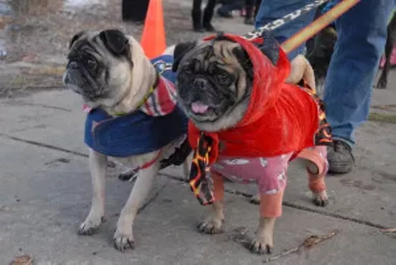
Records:
M267 165L269 161L273 161L274 165L284 165L287 169L288 162L301 151L303 151L301 156L307 158L308 154L309 159L314 161L320 170L318 176L311 176L310 188L314 192L323 191L325 189L323 176L327 171L324 146L331 144L331 130L326 122L323 102L309 87L285 83L290 72L290 63L281 48L278 47L279 58L274 65L256 45L262 44L265 40L257 39L256 43L253 43L240 36L231 34L223 36L230 41L238 42L249 55L254 70L253 87L247 111L235 127L209 133L200 131L190 121L188 139L195 150L190 172L192 191L200 203L210 204L215 199L223 197L220 175L225 174L224 172L231 174L230 172L238 171L232 168L222 170L227 164L225 161L243 158L249 163L257 164L261 159L261 161L265 160ZM213 38L215 36L206 40ZM210 168L213 164L214 166ZM272 167L273 170L268 170L268 167ZM245 182L255 179L260 184L260 178L264 178L262 183L268 183L265 178L280 180L282 179L280 175L286 174L286 169L278 167L275 169L271 163L268 167L267 171L263 169L260 176L256 174L241 178ZM209 170L215 185L214 194L206 174ZM246 170L242 171L246 172ZM255 172L251 173L255 174ZM225 177L233 178L232 175ZM286 178L284 180L286 185ZM261 192L262 196L268 195L267 206L261 208L264 216L280 215L279 209L281 209L285 185L278 184L278 192L268 192L268 194Z

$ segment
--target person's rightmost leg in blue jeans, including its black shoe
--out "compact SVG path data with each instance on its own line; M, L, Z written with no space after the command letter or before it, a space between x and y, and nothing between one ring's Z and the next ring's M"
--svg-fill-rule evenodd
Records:
M393 7L394 0L365 0L336 21L338 40L324 95L334 138L334 146L327 154L331 173L352 170L353 133L369 114L373 80L384 51L387 20Z

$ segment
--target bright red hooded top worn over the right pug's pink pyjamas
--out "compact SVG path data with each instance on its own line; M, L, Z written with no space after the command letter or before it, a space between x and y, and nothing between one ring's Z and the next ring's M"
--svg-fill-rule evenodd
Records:
M254 68L253 88L243 119L233 128L219 132L202 132L190 121L188 138L193 149L203 133L212 139L209 164L220 154L231 157L273 157L298 152L315 144L318 130L318 104L301 87L286 84L290 63L280 48L276 66L255 44L232 34L247 52ZM210 36L205 40L211 40Z

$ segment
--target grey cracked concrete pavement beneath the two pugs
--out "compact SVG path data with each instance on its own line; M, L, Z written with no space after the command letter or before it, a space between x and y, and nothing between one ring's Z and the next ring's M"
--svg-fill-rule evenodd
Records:
M226 232L201 235L195 223L204 207L184 182L168 177L181 176L179 168L158 176L152 202L135 222L134 251L112 247L117 215L133 185L115 177L117 168L107 178L107 222L92 237L77 236L91 198L81 106L67 90L0 100L0 264L19 254L31 255L37 264L262 263L265 256L250 254L240 235L253 235L257 206L227 193ZM369 122L358 131L358 167L352 174L327 178L326 208L310 203L305 173L293 162L272 256L310 235L340 233L273 264L394 264L395 236L380 228L396 227L395 129L394 124ZM253 185L228 184L228 189L255 192Z

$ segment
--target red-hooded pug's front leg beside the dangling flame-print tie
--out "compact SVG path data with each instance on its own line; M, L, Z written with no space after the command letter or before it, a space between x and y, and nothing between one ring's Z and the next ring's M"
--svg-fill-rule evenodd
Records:
M211 212L204 221L198 224L198 231L206 234L218 234L223 231L224 222L224 184L223 176L212 174L215 201Z

